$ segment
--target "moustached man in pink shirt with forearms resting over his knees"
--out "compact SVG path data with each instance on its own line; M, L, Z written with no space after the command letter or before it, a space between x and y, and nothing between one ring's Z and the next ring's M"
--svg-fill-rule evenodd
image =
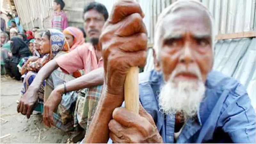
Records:
M98 39L107 19L108 11L103 4L92 2L84 8L84 30L86 36L90 37L91 43L80 45L73 51L45 64L38 72L33 83L29 86L24 97L21 98L21 104L17 107L18 112L27 115L27 118L30 117L36 105L40 85L49 77L52 79L53 84L57 83L58 86L54 87L54 90L44 103L43 121L48 127L55 126L56 124L53 124L53 111L58 107L61 100L63 100L63 94L103 84L103 60ZM60 69L62 72L60 72ZM71 81L60 79L60 76L63 75L64 77L70 77L67 73L72 74L79 69L84 70L83 76L76 79L73 78ZM72 95L74 97L74 94Z

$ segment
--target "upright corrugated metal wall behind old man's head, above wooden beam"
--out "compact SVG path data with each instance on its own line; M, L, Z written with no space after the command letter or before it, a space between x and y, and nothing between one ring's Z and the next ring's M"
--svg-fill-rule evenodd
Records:
M96 0L105 4L108 12L116 0ZM137 0L145 18L148 30L148 43L153 44L157 16L177 0ZM199 0L209 8L214 18L215 34L228 34L255 30L256 0Z

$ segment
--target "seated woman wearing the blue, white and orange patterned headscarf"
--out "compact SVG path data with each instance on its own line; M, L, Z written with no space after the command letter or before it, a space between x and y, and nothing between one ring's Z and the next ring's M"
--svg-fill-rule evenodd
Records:
M48 61L55 58L55 56L64 54L69 50L69 47L68 47L67 41L65 40L64 35L58 30L50 29L50 30L47 30L46 32L44 32L43 36L41 38L39 38L40 36L41 36L41 33L36 34L35 46L41 47L41 50L40 50L41 57L35 56L35 57L33 57L33 59L30 58L30 60L28 60L28 62L26 62L23 65L22 70L21 70L22 73L24 71L26 72L26 75L24 76L24 80L23 80L24 87L21 90L22 96L26 93L29 85L35 79L36 74L41 67L43 67ZM40 40L39 44L38 44L38 39ZM40 44L42 44L42 45L40 45ZM37 50L35 49L35 52L36 51ZM44 84L42 84L40 91L38 93L38 96L39 96L39 103L43 104L42 101L44 100ZM41 110L39 109L39 111L41 111Z

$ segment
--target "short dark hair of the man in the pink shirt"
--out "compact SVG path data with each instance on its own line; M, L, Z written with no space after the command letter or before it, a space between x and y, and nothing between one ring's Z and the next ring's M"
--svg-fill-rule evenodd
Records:
M108 10L105 5L98 3L98 2L91 2L84 7L84 13L88 12L92 9L103 14L105 21L108 19ZM83 13L83 15L84 15L84 13Z

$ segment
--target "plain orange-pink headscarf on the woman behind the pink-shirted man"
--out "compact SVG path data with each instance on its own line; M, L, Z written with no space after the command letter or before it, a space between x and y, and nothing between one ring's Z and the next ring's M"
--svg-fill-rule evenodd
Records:
M74 50L78 45L84 44L84 34L76 27L68 27L63 30L63 33L74 36L74 45L70 48L70 51Z

